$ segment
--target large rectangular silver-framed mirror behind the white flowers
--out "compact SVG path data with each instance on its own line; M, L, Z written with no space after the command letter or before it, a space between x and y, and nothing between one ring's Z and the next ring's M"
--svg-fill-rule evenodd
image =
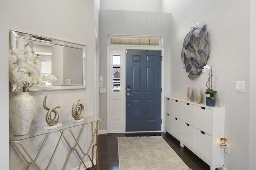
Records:
M26 43L40 55L38 75L53 74L58 79L45 86L32 86L30 91L68 90L86 88L86 46L32 33L10 30L10 45L13 48L24 47ZM15 84L11 91L19 91Z

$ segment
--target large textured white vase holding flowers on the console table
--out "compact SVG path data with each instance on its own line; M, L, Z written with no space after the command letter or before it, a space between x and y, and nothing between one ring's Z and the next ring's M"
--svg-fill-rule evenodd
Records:
M16 92L9 100L9 120L14 135L28 134L35 111L35 99L28 92Z

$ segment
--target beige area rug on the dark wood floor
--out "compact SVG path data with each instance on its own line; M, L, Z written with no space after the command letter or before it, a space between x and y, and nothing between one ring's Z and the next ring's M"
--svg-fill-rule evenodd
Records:
M161 136L118 137L120 170L191 170Z

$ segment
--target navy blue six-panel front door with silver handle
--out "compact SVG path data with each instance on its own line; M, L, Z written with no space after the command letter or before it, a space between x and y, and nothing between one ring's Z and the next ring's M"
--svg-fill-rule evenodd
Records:
M127 50L126 131L161 130L161 51Z

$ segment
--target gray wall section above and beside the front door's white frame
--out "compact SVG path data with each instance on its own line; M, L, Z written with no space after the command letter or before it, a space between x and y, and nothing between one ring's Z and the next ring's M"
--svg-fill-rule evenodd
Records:
M100 76L107 88L107 45L108 34L155 35L163 37L164 47L164 92L170 95L170 13L100 10ZM107 119L107 94L100 94L100 118ZM100 130L106 130L106 121Z

